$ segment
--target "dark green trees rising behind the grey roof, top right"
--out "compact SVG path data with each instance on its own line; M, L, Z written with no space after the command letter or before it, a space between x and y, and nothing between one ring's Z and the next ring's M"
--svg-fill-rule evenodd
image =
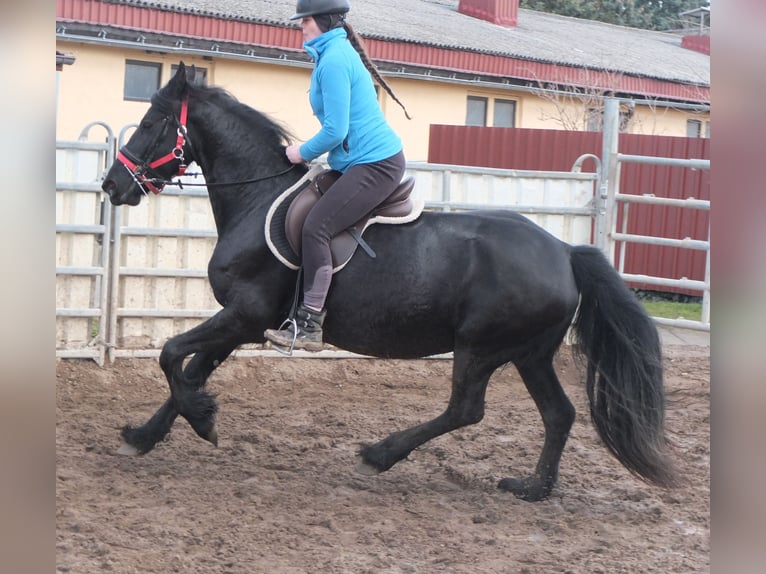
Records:
M676 30L679 14L709 0L521 0L521 8L646 30Z

